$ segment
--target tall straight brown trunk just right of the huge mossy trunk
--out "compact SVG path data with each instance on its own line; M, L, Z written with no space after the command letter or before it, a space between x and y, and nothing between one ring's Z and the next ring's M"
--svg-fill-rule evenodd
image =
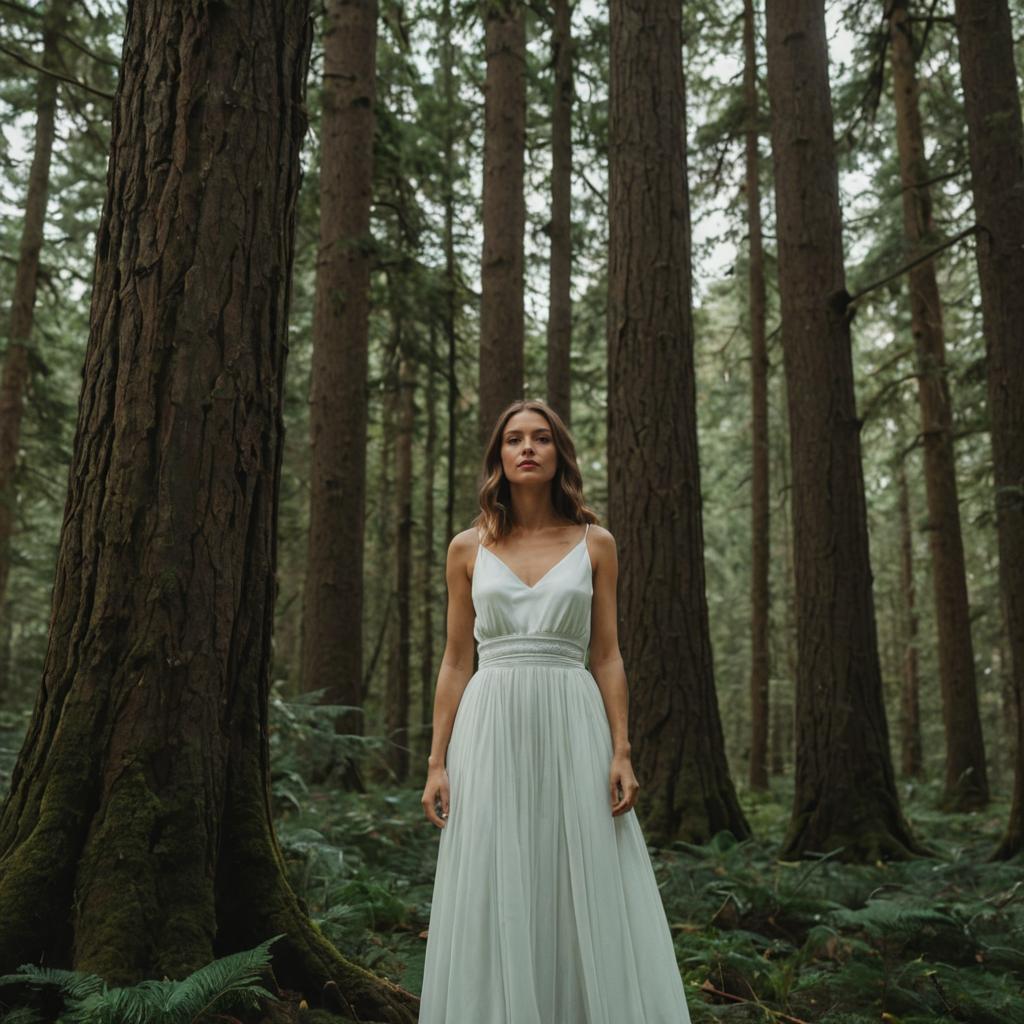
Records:
M362 707L370 204L377 0L328 0L324 30L319 252L310 380L309 549L302 685ZM357 711L338 728L361 733Z

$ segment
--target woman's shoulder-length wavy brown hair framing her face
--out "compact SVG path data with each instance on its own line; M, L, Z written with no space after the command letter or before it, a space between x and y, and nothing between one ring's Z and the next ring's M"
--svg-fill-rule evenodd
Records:
M498 417L483 453L477 493L480 512L472 525L483 534L485 542L506 537L515 525L510 485L502 467L502 439L505 436L505 425L516 413L522 412L540 413L551 427L551 436L558 453L558 465L551 480L551 504L555 507L556 514L569 522L598 522L597 514L584 501L583 476L577 463L575 444L564 421L540 398L518 398L506 406Z

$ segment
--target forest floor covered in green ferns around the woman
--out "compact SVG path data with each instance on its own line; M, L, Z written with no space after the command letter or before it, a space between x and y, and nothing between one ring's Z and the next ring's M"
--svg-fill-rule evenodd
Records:
M333 775L312 782L348 755L379 774L382 742L335 736L301 705L275 698L271 711L276 828L293 886L346 956L419 992L440 837L423 815L422 778L364 794ZM4 724L0 793L16 752L14 723ZM651 850L693 1024L1024 1024L1021 859L986 859L1007 801L949 814L936 809L934 785L901 783L900 796L935 857L778 860L792 799L783 779L740 794L755 839Z

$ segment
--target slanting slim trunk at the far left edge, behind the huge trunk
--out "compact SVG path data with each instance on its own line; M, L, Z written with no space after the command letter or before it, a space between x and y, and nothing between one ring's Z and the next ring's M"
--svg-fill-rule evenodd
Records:
M43 15L42 67L36 82L36 140L25 197L22 245L14 271L14 294L10 301L10 326L0 378L0 608L6 607L10 572L10 541L14 532L17 496L14 473L22 442L22 415L29 387L32 325L35 319L39 253L43 246L43 223L50 183L53 153L53 122L57 110L57 80L48 72L59 63L58 40L68 20L70 0L53 0ZM6 663L0 665L0 694L6 689Z

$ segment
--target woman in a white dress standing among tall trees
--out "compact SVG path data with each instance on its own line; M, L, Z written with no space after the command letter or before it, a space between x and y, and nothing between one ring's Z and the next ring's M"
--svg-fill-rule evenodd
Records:
M633 809L615 543L545 402L499 417L479 499L447 555L420 1024L688 1024Z

